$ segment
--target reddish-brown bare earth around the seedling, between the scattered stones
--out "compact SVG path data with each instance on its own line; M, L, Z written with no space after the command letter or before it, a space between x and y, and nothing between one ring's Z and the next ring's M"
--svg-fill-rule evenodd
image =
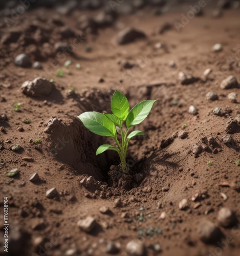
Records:
M41 12L35 10L22 16L19 26L21 23L27 26L30 19L38 20ZM43 24L46 20L51 23L49 17L53 14L44 10ZM77 14L58 18L75 28ZM164 34L155 33L164 22L172 23L180 18L179 13L152 16L145 12L120 17L116 25L99 30L98 35L86 34L86 39L74 50L75 57L64 59L53 54L53 44L59 40L54 25L46 50L50 54L42 61L43 69L50 70L47 73L14 65L14 57L28 50L20 43L1 46L0 94L6 101L0 102L0 114L8 117L0 125L6 130L6 133L0 132L3 145L0 154L4 163L0 172L1 220L3 198L8 197L10 235L17 234L15 229L19 228L23 239L20 245L13 238L10 240L10 255L65 255L70 248L76 248L73 255L106 255L109 241L119 243L119 255L127 255L126 244L137 238L146 247L159 243L162 255L239 255L237 224L232 228L221 227L225 235L222 241L226 241L227 236L232 238L224 249L216 250L215 253L221 254L211 254L210 250L214 252L219 244L205 244L198 234L202 220L217 224L217 212L223 206L230 207L240 218L240 167L235 165L235 161L240 160L239 132L232 134L234 146L222 141L227 134L227 122L240 114L239 89L220 88L222 80L229 75L240 82L239 11L226 11L219 19L211 18L210 14L195 17L181 33L174 27ZM117 45L116 34L129 24L143 30L147 39ZM4 35L9 29L1 30ZM68 41L71 43L73 39ZM165 47L155 49L157 42ZM212 52L216 43L222 44L223 51ZM85 52L87 45L92 47L92 52ZM43 45L38 47L42 54ZM30 56L34 59L35 55L30 51ZM59 61L59 66L50 69L54 59ZM66 68L63 64L68 59L73 63ZM118 62L125 60L140 68L121 69ZM176 68L169 67L170 60L176 62ZM80 70L75 68L76 63L81 64ZM57 68L65 72L63 77L56 76ZM212 73L204 80L203 72L207 68L211 68ZM181 71L201 79L183 86L178 81ZM31 98L21 93L24 81L39 76L56 79L56 89L50 96ZM99 83L100 78L104 82ZM70 87L76 88L72 98L67 97ZM114 90L125 93L131 106L140 100L158 99L149 117L138 126L147 136L130 143L128 162L132 174L142 174L142 181L132 183L127 190L123 189L121 177L118 188L111 188L107 172L111 165L118 164L118 158L114 153L96 156L97 147L105 139L91 134L76 118L84 111L110 111ZM208 101L208 92L215 92L219 100ZM237 94L237 103L228 100L230 92ZM20 112L13 111L15 103L21 103ZM199 110L198 115L188 113L190 105ZM212 113L216 107L231 111L225 116L216 116ZM45 133L43 130L51 117L58 120L48 126ZM30 119L29 124L23 122L26 118ZM24 131L19 132L18 126L23 126ZM187 138L179 138L180 131L186 131ZM208 143L208 149L196 156L192 148L202 144L204 137L213 137L215 144ZM37 139L41 143L34 143ZM11 147L16 144L21 149L13 152ZM23 160L25 156L31 157L32 162ZM211 166L208 161L212 161ZM9 178L8 172L13 168L18 168L19 173ZM41 181L32 183L29 179L36 172ZM94 181L86 189L80 181L89 176L93 176ZM49 199L46 191L52 187L57 189L58 196ZM192 196L196 193L203 197L193 202ZM221 193L227 196L226 201ZM116 199L121 199L122 207L114 207ZM188 200L187 210L179 209L182 199ZM157 209L159 203L161 207ZM101 214L101 206L109 207L112 214ZM161 220L163 211L166 218ZM144 221L141 221L142 215ZM98 223L91 233L77 226L79 220L88 216ZM150 227L162 231L139 237L139 231ZM147 250L149 255L157 254L150 248Z

